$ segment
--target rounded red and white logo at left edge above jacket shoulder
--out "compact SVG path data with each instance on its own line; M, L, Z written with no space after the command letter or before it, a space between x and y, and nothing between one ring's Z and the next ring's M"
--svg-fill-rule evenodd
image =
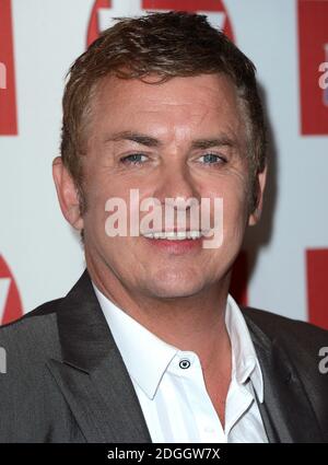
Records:
M0 324L10 323L22 315L22 301L14 277L0 255Z

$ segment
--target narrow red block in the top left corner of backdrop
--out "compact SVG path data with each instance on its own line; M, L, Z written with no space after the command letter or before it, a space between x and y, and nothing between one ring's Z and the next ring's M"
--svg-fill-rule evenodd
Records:
M17 133L12 31L11 0L0 0L0 136Z

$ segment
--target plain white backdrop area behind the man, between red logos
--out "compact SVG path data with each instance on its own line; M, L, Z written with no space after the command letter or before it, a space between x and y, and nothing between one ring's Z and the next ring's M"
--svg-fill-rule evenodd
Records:
M12 272L0 279L2 313L10 279L27 312L66 294L84 267L78 236L57 202L51 161L59 148L63 77L85 49L95 2L0 0L0 16L8 3L17 135L0 135L0 255ZM140 5L140 0L116 0L102 13L102 22L114 13L136 14ZM251 264L254 244L261 243L249 277L248 303L308 319L306 249L328 248L328 131L301 133L297 1L225 0L224 7L235 42L257 66L276 159L263 223L250 231L256 239L248 239L246 246ZM3 39L0 32L0 43ZM328 314L326 319L328 325Z

